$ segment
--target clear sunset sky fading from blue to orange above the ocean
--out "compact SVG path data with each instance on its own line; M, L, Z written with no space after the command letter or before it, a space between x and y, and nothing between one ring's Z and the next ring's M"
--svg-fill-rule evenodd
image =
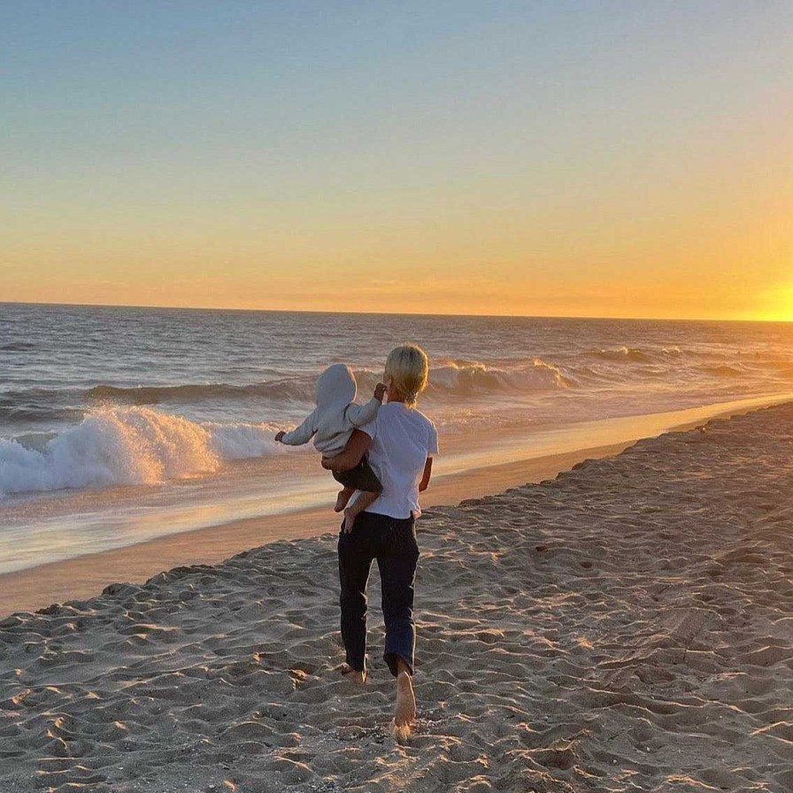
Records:
M0 0L0 302L793 320L791 37L789 0Z

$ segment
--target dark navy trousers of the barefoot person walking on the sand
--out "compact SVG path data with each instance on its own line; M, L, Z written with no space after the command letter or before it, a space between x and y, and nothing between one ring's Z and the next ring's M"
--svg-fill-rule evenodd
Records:
M382 616L386 627L383 658L396 676L402 658L413 674L416 627L413 622L413 585L419 561L412 518L397 520L376 512L361 512L350 534L339 534L339 582L342 640L347 663L366 666L366 584L377 559L382 585Z

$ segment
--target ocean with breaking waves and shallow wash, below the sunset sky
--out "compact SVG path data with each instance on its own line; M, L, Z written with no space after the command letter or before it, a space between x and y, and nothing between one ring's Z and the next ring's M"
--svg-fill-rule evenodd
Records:
M332 499L273 435L328 364L368 399L403 342L430 358L440 475L793 392L793 323L0 304L0 572Z

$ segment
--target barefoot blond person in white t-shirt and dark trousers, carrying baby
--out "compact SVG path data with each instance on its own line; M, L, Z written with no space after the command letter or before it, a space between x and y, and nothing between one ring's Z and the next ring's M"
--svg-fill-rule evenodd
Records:
M366 681L366 583L377 559L382 583L382 613L386 627L383 658L396 678L396 737L410 734L416 718L413 695L413 583L419 546L415 520L420 515L419 492L426 490L432 458L438 451L435 425L416 410L427 386L427 353L412 344L391 350L385 376L388 401L377 418L355 430L341 454L323 459L332 471L347 471L368 452L369 465L382 492L360 512L348 531L339 534L339 581L342 639L347 653L343 674ZM356 494L358 495L358 494Z

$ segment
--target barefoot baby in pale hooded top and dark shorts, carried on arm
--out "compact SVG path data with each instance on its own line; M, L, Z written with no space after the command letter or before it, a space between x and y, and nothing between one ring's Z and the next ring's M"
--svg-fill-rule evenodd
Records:
M385 390L386 387L378 383L374 396L366 404L356 404L358 386L350 367L344 364L328 366L317 381L317 407L299 427L291 432L281 431L275 435L275 440L289 446L302 446L313 437L314 448L323 457L334 457L347 445L355 427L363 427L374 420ZM380 496L382 485L369 466L366 454L350 471L333 475L343 485L336 499L335 512L344 510L344 529L351 531L358 513ZM349 509L344 509L356 490L360 490L361 495Z

